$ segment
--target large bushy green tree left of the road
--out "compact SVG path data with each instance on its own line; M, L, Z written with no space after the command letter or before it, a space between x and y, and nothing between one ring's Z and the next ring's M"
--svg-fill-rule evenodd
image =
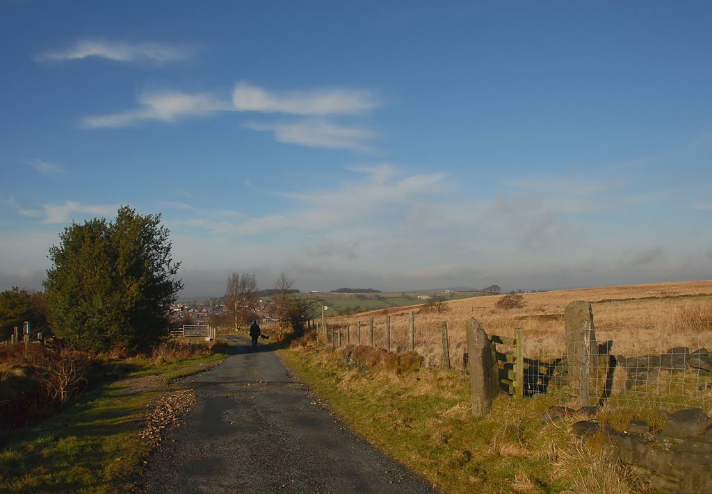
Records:
M54 332L93 351L148 350L167 334L183 284L160 214L122 206L116 220L71 224L52 246L46 303Z

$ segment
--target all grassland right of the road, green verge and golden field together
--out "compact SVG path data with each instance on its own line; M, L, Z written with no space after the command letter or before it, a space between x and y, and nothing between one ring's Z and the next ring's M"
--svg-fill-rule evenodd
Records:
M392 354L373 367L349 366L344 363L349 350L331 352L323 340L295 347L285 357L337 415L442 492L649 492L645 478L601 456L601 437L587 447L572 436L571 424L587 419L585 414L572 414L556 424L540 421L549 406L577 408L574 395L563 396L562 401L556 392L525 399L500 394L493 413L472 419L468 380L459 372L466 322L475 317L490 335L508 337L513 337L515 327L522 327L525 357L550 358L565 351L561 342L567 304L587 300L592 303L597 340L611 340L611 354L663 354L683 346L712 349L712 281L528 293L522 294L520 308L509 309L497 305L502 298L451 300L446 304L449 310L441 313L419 312L422 305L412 305L328 318L328 327L340 334L342 346L357 343L359 337L362 345L369 345L373 318L375 345L383 348L390 317L394 352L407 348L413 311L415 350L425 357L426 367L416 372L394 367L397 359ZM449 328L454 372L439 368L443 322ZM626 372L619 369L616 379L625 379ZM712 394L708 382L699 379L699 373L689 370L661 370L644 386L615 384L595 419L617 430L624 430L632 419L644 420L657 431L670 409L709 410ZM703 390L700 384L705 384Z

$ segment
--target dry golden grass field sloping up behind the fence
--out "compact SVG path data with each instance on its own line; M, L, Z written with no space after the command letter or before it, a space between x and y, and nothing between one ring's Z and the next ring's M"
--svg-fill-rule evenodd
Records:
M563 314L575 300L592 303L597 340L612 340L611 352L639 355L666 352L670 347L712 348L712 280L610 286L524 293L523 307L497 307L503 295L491 295L447 302L449 310L440 314L417 313L419 305L377 310L362 314L330 317L328 325L342 326L342 342L358 340L368 344L369 319L374 318L375 345L386 345L386 314L391 319L391 350L408 347L409 311L415 315L416 350L426 365L443 361L441 323L449 330L449 350L454 367L461 367L466 347L466 322L474 317L488 334L512 337L515 327L525 334L525 355L544 357L560 354L564 333ZM347 329L348 328L348 329ZM694 347L694 348L693 348Z

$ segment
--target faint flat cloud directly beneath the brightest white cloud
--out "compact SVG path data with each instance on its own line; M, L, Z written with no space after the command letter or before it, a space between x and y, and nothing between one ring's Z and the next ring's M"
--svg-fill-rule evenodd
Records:
M273 132L279 142L328 149L367 151L369 148L363 142L377 137L375 132L362 127L344 127L323 120L290 123L248 122L244 126L251 130Z

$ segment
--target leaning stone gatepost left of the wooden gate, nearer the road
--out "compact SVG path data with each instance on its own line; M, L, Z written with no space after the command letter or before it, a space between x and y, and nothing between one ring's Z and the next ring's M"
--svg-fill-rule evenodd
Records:
M492 411L492 402L499 393L499 369L494 345L475 319L467 322L467 352L472 413L479 417Z

